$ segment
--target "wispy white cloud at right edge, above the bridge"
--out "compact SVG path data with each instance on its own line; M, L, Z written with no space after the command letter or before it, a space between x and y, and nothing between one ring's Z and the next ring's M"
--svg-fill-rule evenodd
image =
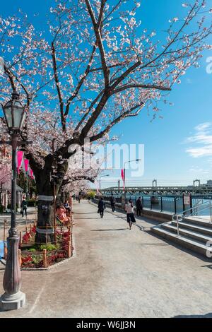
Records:
M212 156L212 122L199 124L196 133L186 138L185 143L194 143L186 152L193 158Z

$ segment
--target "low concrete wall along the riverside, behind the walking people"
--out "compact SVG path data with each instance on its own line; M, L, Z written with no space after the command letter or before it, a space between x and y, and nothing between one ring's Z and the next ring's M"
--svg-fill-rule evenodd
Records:
M93 203L97 204L98 199L94 198ZM110 207L110 202L105 201L106 206ZM120 211L124 212L121 203L115 203L116 208ZM136 211L136 208L134 209ZM160 212L155 210L150 210L148 208L143 208L143 213L141 213L143 217L153 219L158 221L158 223L165 223L166 221L172 220L172 213Z

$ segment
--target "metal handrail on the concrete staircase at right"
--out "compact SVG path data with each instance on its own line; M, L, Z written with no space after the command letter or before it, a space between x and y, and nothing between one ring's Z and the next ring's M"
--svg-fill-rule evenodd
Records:
M197 215L197 213L201 211L208 210L210 211L210 222L212 223L212 203L210 201L206 201L200 204L196 204L196 206L192 206L192 208L188 208L187 210L182 211L181 214L174 213L172 216L172 220L176 220L177 222L177 237L179 237L179 223L189 215L195 215L196 218L202 218L201 216Z

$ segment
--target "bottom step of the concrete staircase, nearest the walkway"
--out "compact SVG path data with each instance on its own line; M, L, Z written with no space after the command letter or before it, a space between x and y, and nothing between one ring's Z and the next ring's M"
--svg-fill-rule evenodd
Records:
M177 237L175 233L171 232L170 230L165 230L160 226L161 225L151 227L151 232L153 232L155 235L159 235L160 237L168 239L171 242L175 242L184 248L190 249L197 254L201 254L208 259L212 259L212 248L207 247L205 244L194 239L183 237L182 235ZM209 255L207 255L207 252Z

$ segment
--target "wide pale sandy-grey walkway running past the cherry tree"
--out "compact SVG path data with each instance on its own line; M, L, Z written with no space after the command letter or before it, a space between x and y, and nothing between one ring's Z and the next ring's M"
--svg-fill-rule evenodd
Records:
M100 219L86 201L73 209L76 257L22 271L27 304L0 318L212 316L210 262L151 235L154 222L139 220L129 231L122 213Z

